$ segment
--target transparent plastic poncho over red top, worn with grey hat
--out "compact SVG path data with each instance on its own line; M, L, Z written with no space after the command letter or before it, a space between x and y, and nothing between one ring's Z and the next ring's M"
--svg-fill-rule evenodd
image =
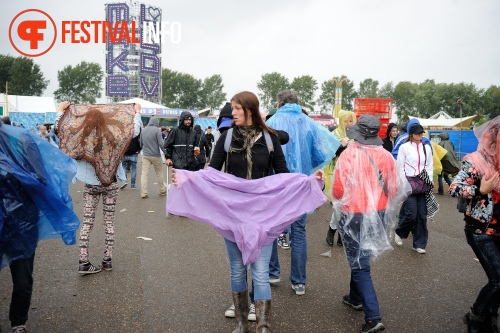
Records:
M390 238L397 211L410 193L403 170L382 146L353 142L340 155L332 204L351 268L363 268L366 260L360 259L392 250Z

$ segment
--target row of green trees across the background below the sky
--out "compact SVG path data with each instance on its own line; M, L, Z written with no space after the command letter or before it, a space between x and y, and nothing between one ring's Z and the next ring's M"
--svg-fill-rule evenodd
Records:
M71 100L74 103L95 103L102 96L101 83L104 71L97 63L82 61L76 66L65 66L57 72L59 88L54 91L58 101ZM167 107L180 109L218 110L226 101L222 76L214 74L199 79L191 74L162 69L162 99ZM0 92L5 93L9 82L9 93L13 95L40 96L47 88L40 66L33 59L0 54ZM342 108L353 110L356 97L392 98L399 119L409 115L428 118L439 111L452 117L460 116L456 99L463 101L462 115L480 115L490 118L500 112L500 87L478 88L473 83L436 83L434 80L414 83L402 81L397 84L368 78L355 87L354 81L346 75L333 76L321 84L321 93L316 98L318 82L310 75L293 78L273 72L261 76L257 83L262 108L270 111L276 108L276 95L284 89L297 92L300 103L309 111L331 113L335 103L335 82L342 82Z

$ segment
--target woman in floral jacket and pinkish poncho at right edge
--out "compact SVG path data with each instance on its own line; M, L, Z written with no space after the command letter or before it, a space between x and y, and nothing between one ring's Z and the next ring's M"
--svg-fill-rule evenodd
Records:
M464 316L467 332L498 333L500 307L500 116L478 127L477 151L464 157L449 193L466 199L465 237L488 278Z

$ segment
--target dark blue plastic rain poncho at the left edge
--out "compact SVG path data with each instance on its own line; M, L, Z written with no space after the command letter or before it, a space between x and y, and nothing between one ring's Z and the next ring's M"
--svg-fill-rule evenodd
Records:
M69 183L76 162L30 131L0 123L0 268L33 255L38 241L76 243Z

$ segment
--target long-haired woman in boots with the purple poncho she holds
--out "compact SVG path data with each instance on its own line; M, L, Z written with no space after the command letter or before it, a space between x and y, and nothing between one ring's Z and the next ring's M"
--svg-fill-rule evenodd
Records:
M210 167L197 172L173 170L176 186L169 191L167 210L208 223L225 238L238 321L233 333L248 332L247 265L252 270L257 332L270 332L272 242L298 216L326 201L323 184L317 181L324 174L289 173L279 139L262 120L255 94L236 94L231 108L233 130L217 141ZM232 138L227 149L228 133ZM272 147L266 144L267 134ZM223 166L225 174L215 170ZM267 177L273 173L279 175ZM193 193L202 193L196 203L187 200Z

